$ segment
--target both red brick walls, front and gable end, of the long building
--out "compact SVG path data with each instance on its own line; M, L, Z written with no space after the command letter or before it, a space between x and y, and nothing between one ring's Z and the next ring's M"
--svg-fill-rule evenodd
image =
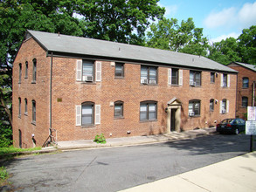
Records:
M37 84L24 79L24 62L29 62L29 74L32 70L32 59L38 59ZM18 82L18 64L23 64L23 78ZM52 68L52 127L58 131L58 141L92 140L96 134L106 137L124 137L134 135L161 134L166 132L167 113L165 108L170 99L176 97L182 102L182 129L214 126L214 121L235 116L236 74L231 74L231 86L220 87L220 73L214 84L210 83L211 72L202 72L202 86L191 87L190 70L183 69L183 86L168 86L168 68L158 67L158 85L141 85L141 65L125 64L125 78L114 79L114 66L110 61L102 61L101 81L86 84L76 81L76 58L53 58ZM50 57L32 39L25 42L17 54L13 70L13 131L18 141L18 129L23 132L24 147L31 147L31 134L35 134L37 145L41 145L48 135L49 128L49 82ZM22 116L17 117L18 97L22 99ZM24 98L28 99L28 116L24 116ZM37 101L37 125L31 124L31 100ZM59 100L58 100L59 99ZM201 100L200 117L188 117L190 99ZM210 99L218 99L214 111L209 111ZM221 99L230 102L229 113L219 113ZM60 101L61 100L61 101ZM114 119L114 106L110 102L124 102L122 119ZM157 101L157 120L140 122L140 102ZM94 127L75 126L75 106L85 101L100 105L100 125ZM131 131L131 134L127 134ZM16 143L18 145L18 142Z

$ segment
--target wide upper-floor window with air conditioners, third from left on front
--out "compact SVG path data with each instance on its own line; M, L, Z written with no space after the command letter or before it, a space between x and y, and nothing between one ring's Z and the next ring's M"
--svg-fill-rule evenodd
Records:
M157 84L157 67L142 65L141 84Z

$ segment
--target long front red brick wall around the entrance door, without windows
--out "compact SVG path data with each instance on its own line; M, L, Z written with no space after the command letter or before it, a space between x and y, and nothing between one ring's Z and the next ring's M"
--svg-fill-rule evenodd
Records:
M189 86L190 70L183 69L183 86L168 86L168 68L158 67L158 85L144 86L140 83L141 65L125 64L125 78L114 79L114 66L102 62L102 80L93 84L76 81L76 59L54 58L53 61L53 127L58 129L61 141L93 139L95 134L106 137L161 134L166 132L165 108L176 97L183 103L182 129L214 126L214 121L235 116L236 75L231 75L231 86L220 87L220 74L215 84L210 83L211 72L202 72L202 86ZM66 78L67 77L67 78ZM61 84L59 82L62 82ZM68 93L68 94L66 94ZM57 102L61 98L62 102ZM201 99L201 116L188 117L190 99ZM214 112L209 112L210 99L218 99ZM219 113L221 99L230 101L229 113ZM124 102L124 118L114 119L114 106L110 102ZM140 122L140 102L156 100L157 120ZM92 101L101 106L101 122L95 127L75 126L75 106ZM207 124L206 124L207 121Z

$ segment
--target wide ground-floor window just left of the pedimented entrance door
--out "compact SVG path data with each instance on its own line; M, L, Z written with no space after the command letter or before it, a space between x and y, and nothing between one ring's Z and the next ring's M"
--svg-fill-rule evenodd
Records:
M156 120L157 119L157 102L143 101L140 106L140 120Z

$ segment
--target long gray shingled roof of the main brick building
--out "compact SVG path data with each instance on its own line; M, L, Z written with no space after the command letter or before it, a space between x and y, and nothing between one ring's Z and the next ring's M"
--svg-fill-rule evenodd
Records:
M121 58L142 62L196 67L212 71L236 72L209 58L174 51L163 51L93 38L80 38L42 31L28 31L46 51L59 51L97 57Z

